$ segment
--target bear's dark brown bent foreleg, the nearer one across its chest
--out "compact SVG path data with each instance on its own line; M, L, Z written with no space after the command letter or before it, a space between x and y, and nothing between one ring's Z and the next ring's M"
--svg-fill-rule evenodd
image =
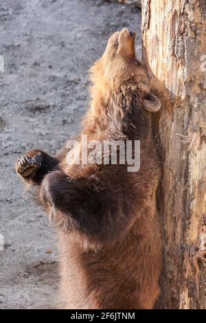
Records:
M111 242L127 231L132 212L121 194L106 184L91 178L71 179L56 170L43 179L40 198L45 206L54 208L57 217L65 218L69 229L98 243Z

